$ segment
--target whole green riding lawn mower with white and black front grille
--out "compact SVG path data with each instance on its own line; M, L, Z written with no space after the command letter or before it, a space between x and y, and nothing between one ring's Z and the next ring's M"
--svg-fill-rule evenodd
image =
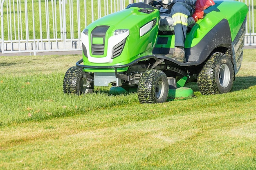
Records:
M83 58L67 70L63 92L89 94L94 86L112 85L110 93L137 91L140 103L157 103L193 97L184 87L188 80L204 95L229 92L243 59L248 7L214 2L188 26L184 63L171 59L171 17L161 16L152 0L96 20L81 33Z

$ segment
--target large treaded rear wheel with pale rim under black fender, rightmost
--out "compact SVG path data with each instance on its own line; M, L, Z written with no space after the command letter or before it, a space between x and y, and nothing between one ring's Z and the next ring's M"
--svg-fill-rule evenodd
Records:
M215 52L198 75L197 83L201 94L228 93L234 81L234 66L221 52Z

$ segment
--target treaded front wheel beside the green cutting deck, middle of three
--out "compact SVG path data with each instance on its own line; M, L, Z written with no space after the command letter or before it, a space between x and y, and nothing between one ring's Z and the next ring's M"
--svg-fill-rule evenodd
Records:
M169 92L166 74L160 70L146 70L138 84L140 103L166 102Z

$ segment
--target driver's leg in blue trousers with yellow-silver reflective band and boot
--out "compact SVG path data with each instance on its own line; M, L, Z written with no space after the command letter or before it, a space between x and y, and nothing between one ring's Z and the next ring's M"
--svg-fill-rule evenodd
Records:
M184 43L188 27L188 17L192 14L193 8L183 2L175 3L169 14L173 18L175 33L175 49L173 57L180 62L183 62L185 58Z

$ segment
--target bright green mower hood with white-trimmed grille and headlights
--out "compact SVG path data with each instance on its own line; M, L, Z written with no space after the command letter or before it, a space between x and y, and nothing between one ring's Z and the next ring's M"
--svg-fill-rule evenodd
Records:
M96 20L81 33L84 65L125 65L152 54L158 27L159 10L144 3Z

